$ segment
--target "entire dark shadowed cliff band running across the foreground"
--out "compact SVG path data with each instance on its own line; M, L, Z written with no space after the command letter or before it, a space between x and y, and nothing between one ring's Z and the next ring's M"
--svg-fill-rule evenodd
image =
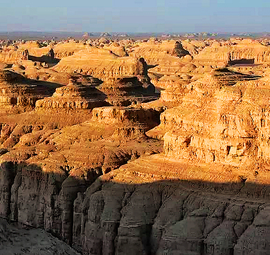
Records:
M267 185L129 184L123 169L96 180L93 171L73 178L69 167L44 173L35 164L13 162L3 162L0 174L2 217L42 227L83 254L269 253Z

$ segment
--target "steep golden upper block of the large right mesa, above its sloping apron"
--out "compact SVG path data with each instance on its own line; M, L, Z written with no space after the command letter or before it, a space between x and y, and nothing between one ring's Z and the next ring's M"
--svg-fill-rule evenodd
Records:
M238 166L252 164L253 157L267 161L267 155L258 151L264 147L262 136L268 136L261 115L268 99L250 99L260 97L261 90L268 89L267 78L231 75L222 69L207 81L205 78L189 84L192 93L183 97L183 104L163 113L161 123L168 128L164 137L168 155ZM236 84L232 86L232 82ZM253 146L256 152L251 149Z

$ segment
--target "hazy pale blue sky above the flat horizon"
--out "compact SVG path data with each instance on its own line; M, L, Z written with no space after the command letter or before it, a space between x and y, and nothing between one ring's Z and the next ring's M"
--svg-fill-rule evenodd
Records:
M269 32L269 0L0 0L0 31Z

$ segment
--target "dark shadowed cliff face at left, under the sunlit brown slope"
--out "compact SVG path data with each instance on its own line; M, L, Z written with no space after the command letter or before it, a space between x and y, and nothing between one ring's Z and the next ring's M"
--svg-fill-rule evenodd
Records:
M1 164L1 216L32 227L40 227L67 243L72 240L73 201L98 173L72 178L69 167L44 173L36 164Z

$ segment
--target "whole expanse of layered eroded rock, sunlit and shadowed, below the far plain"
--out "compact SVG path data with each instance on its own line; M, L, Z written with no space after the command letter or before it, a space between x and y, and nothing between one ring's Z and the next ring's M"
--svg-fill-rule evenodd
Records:
M268 51L239 39L2 49L0 216L82 254L269 254Z

